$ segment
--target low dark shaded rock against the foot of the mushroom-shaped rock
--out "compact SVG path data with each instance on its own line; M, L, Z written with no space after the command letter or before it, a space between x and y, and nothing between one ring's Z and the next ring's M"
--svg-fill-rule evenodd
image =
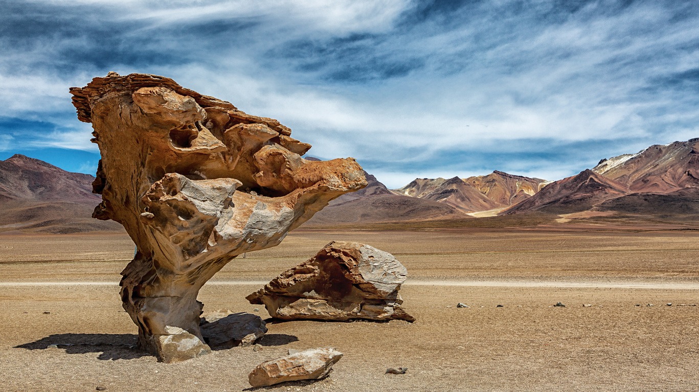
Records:
M210 313L201 318L201 336L212 348L226 349L252 346L267 333L261 317L229 310Z

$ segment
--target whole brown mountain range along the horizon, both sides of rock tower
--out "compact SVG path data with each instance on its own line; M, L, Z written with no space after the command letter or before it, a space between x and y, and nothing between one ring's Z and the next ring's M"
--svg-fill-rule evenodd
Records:
M585 212L699 215L699 138L603 159L596 167L559 181L495 171L468 178L415 179L403 188L389 189L365 174L366 188L333 200L305 225ZM122 230L117 223L91 218L101 201L92 194L92 181L88 174L66 172L19 154L0 161L0 231Z

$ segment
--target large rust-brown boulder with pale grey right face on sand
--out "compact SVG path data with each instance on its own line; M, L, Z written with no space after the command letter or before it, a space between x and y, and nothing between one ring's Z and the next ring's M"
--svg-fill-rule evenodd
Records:
M278 319L403 319L398 290L408 271L388 252L334 241L246 297Z

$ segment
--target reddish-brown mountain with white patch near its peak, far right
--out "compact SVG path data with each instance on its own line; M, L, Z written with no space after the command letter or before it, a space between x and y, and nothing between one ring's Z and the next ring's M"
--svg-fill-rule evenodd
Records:
M555 181L501 215L614 211L646 216L699 213L699 138L649 146L600 160L593 169Z

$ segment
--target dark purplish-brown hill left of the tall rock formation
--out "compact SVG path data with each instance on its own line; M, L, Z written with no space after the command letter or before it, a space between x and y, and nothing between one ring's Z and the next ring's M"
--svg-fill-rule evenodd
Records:
M0 232L122 231L118 223L92 219L101 201L92 194L93 180L20 154L1 160Z

